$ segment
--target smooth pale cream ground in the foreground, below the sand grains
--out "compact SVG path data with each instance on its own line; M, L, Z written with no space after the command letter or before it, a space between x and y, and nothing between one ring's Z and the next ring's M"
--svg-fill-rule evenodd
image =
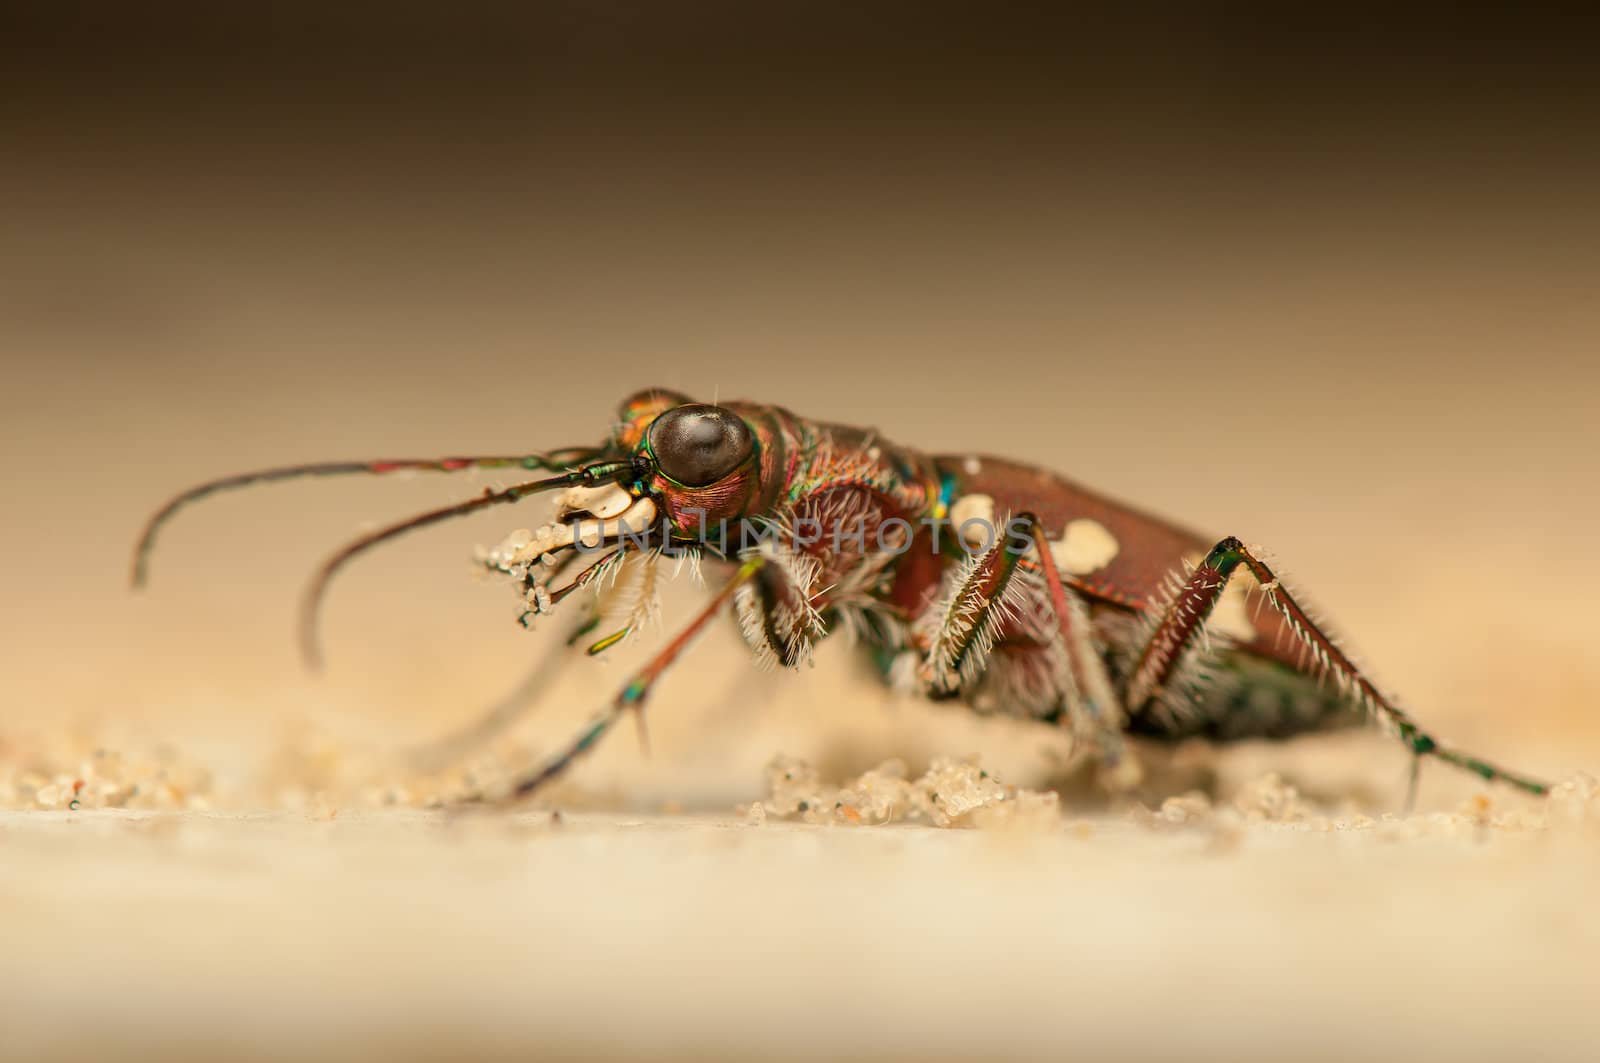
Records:
M3 1045L1587 1060L1594 831L6 813Z

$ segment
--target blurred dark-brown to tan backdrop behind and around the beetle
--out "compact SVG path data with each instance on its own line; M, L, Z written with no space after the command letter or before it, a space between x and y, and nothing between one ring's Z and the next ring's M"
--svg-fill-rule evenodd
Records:
M472 581L470 548L538 512L341 578L317 682L291 639L310 565L482 480L216 499L133 597L139 522L253 466L589 442L618 397L666 384L1034 459L1264 543L1443 732L1554 776L1595 764L1584 24L621 3L6 19L13 732L170 738L248 792L288 720L374 744L464 722L538 639ZM661 688L654 757L622 736L587 778L682 797L693 768L723 807L778 749L1021 765L1040 741L891 706L838 650L763 685L730 632ZM547 733L622 676L581 664ZM1403 757L1362 749L1398 786Z

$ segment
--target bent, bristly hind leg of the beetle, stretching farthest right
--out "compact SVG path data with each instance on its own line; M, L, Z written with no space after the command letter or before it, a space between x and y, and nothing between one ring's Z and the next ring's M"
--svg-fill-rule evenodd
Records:
M1314 668L1330 676L1354 703L1360 704L1378 724L1406 744L1411 756L1437 757L1458 768L1472 772L1486 781L1499 781L1530 794L1549 792L1549 784L1509 772L1480 757L1453 749L1424 732L1392 698L1378 690L1362 674L1349 655L1317 624L1294 596L1282 584L1248 546L1229 536L1211 548L1189 578L1166 604L1155 628L1150 631L1125 688L1126 706L1139 712L1155 700L1171 680L1184 653L1203 637L1206 616L1222 597L1227 581L1243 567L1261 584L1264 600L1286 621L1293 636L1306 647ZM1414 773L1413 764L1413 773ZM1414 781L1413 781L1414 786Z

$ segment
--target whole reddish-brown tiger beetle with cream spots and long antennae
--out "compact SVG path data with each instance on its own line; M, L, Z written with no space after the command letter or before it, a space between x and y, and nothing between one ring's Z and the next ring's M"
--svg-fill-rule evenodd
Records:
M218 490L301 475L515 467L554 472L363 536L306 597L304 639L328 580L413 528L560 490L552 523L483 557L518 583L525 621L582 588L642 591L602 652L648 613L664 556L726 562L710 602L562 752L520 778L522 796L563 772L728 608L758 658L794 668L848 628L883 676L931 698L1069 727L1117 786L1138 778L1125 735L1288 736L1376 720L1413 754L1542 794L1546 784L1453 749L1378 690L1304 605L1237 538L1211 540L1053 472L989 456L939 456L875 432L747 402L667 391L627 399L598 447L542 455L331 463L205 483L168 503L134 552L142 583L155 535ZM579 560L578 573L560 580ZM582 631L590 631L590 618Z

